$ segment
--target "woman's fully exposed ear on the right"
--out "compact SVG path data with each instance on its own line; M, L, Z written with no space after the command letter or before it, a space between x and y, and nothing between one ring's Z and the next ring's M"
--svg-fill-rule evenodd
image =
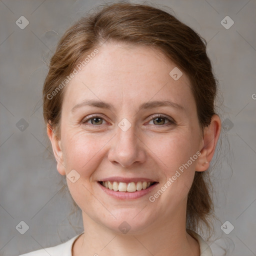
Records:
M217 114L212 115L211 122L203 129L203 139L201 143L200 155L195 166L195 171L204 171L208 169L217 140L220 134L221 121Z

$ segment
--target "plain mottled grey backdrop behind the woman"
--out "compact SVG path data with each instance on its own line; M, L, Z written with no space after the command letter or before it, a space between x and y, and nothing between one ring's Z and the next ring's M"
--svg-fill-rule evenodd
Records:
M210 247L214 255L221 254L217 245L225 244L230 248L227 255L256 255L256 100L252 98L256 93L256 1L153 2L172 8L177 18L206 39L223 95L226 150L221 151L221 164L213 174L219 222L214 223ZM59 191L61 177L50 150L45 149L41 89L47 72L44 62L59 37L99 3L104 2L0 0L0 255L53 246L83 230L79 215L71 222L78 228L68 222L71 200ZM15 24L21 15L29 21L24 29ZM226 15L234 21L229 29L220 23ZM19 123L16 126L21 118L28 124L23 131ZM22 220L29 226L24 234L15 228ZM234 226L229 234L220 229L226 220Z

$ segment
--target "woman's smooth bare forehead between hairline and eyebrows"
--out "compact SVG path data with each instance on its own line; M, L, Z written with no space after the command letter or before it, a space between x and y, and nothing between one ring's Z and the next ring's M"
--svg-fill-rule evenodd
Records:
M84 98L127 105L170 99L184 108L194 105L188 77L182 73L174 80L169 73L177 67L160 50L120 43L105 43L97 50L68 83L63 106L70 108Z

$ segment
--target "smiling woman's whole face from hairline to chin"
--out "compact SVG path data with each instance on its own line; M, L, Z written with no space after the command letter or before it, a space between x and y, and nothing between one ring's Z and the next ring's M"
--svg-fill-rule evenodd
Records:
M189 79L156 49L97 49L65 88L58 171L84 221L133 233L183 223L203 146Z

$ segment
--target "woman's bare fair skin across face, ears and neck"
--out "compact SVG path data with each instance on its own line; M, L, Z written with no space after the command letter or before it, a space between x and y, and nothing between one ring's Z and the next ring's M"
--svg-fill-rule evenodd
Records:
M195 171L209 167L220 119L213 115L202 136L188 77L183 73L175 81L169 75L175 64L157 49L105 43L98 50L65 88L59 140L47 126L58 172L65 175L75 169L80 175L74 183L67 178L84 225L72 255L198 256L199 245L185 230L187 194ZM72 112L84 99L113 108L81 106ZM183 109L158 106L138 111L140 104L153 100L170 100ZM101 119L82 123L92 114ZM174 123L165 118L157 122L155 114ZM123 118L131 124L125 132L118 127ZM196 152L200 156L150 202L148 197ZM111 176L144 177L158 184L142 197L120 200L107 195L97 182ZM123 221L131 227L126 234L118 228Z

